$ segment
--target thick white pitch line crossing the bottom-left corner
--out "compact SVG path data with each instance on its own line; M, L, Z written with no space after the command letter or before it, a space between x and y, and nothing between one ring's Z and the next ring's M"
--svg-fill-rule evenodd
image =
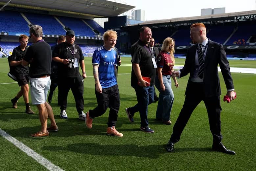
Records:
M34 150L29 148L27 145L25 145L25 144L19 142L18 140L16 140L15 138L13 138L10 134L5 132L1 128L0 128L0 135L2 137L4 137L6 140L8 140L9 142L11 142L16 147L18 147L21 151L25 152L28 156L32 157L36 162L38 162L42 166L46 167L48 170L50 170L50 171L56 171L56 170L64 171L60 167L54 165L49 160L47 160L44 157L42 157L41 155L37 154Z

